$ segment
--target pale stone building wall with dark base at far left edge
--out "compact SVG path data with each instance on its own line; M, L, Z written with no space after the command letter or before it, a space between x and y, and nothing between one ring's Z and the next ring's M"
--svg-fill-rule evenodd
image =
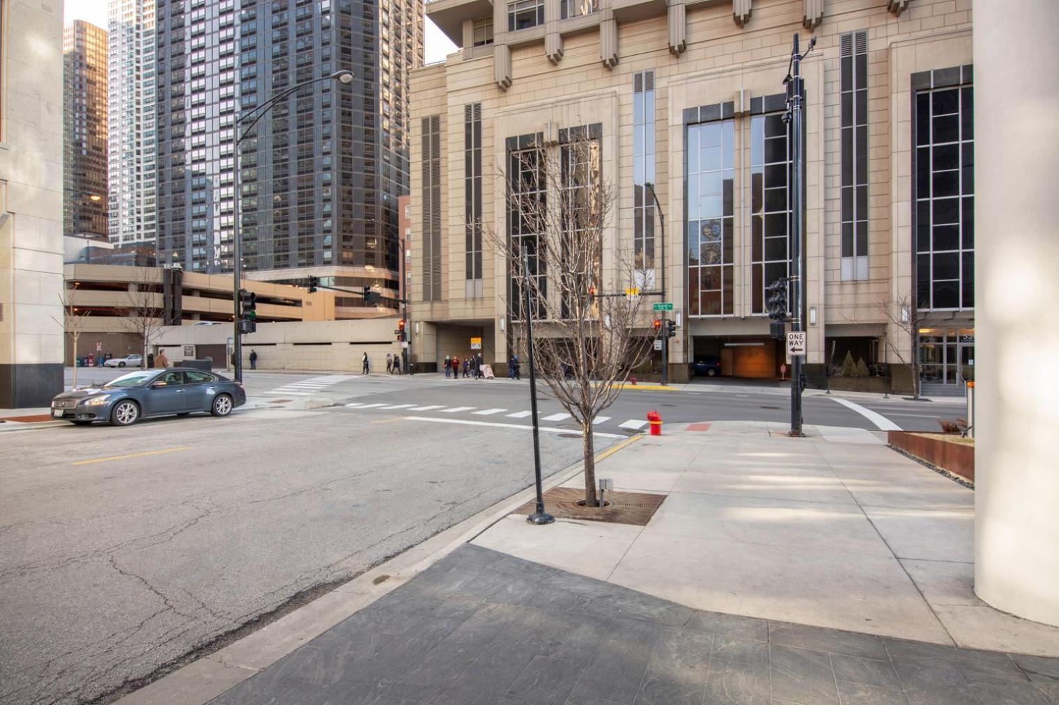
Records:
M62 391L62 3L3 3L0 408Z

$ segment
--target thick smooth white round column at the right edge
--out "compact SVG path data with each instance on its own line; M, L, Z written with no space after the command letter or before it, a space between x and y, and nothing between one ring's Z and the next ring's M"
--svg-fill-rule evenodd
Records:
M1059 2L973 12L974 591L1059 626Z

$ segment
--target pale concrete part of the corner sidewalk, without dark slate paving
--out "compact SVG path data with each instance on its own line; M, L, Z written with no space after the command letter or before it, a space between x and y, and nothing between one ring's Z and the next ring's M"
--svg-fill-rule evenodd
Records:
M1059 656L1059 629L974 596L973 490L883 434L690 428L708 430L648 437L597 469L615 490L667 494L647 526L508 517L474 543L699 610Z

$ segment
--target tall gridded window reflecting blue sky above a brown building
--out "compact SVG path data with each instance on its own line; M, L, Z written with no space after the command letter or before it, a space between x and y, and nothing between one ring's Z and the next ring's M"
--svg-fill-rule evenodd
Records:
M735 123L687 128L688 315L733 312Z

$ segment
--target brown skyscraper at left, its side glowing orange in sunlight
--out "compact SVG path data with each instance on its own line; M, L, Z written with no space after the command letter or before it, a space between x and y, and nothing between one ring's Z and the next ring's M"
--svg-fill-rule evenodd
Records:
M62 32L62 233L107 237L107 33Z

